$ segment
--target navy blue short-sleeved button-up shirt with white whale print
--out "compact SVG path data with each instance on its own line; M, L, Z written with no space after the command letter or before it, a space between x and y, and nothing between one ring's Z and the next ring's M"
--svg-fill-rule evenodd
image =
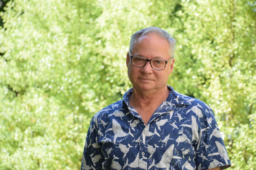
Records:
M170 88L147 125L129 106L129 95L96 113L81 170L206 170L230 167L211 108Z

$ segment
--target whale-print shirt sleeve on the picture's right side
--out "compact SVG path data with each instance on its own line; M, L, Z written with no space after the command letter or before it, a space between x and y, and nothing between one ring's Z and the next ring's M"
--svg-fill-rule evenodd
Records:
M227 150L222 140L214 113L206 105L202 111L205 111L203 117L197 123L199 130L199 141L196 150L197 169L212 169L220 167L226 169L231 166Z

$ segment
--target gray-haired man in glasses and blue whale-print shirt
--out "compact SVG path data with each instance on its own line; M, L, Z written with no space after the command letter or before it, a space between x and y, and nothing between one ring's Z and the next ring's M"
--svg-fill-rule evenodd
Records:
M157 27L132 35L126 65L132 88L96 113L81 170L205 170L230 167L211 108L167 85L175 40Z

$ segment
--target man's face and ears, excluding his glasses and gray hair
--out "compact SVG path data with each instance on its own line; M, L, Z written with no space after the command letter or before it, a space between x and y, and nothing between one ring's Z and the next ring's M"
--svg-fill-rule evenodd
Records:
M135 43L135 48L131 55L141 56L147 59L169 60L169 45L167 40L158 37L154 33L143 35ZM144 67L135 67L131 63L129 53L127 54L126 64L128 67L128 77L132 87L138 91L151 91L156 93L158 90L166 88L169 75L173 71L174 60L168 62L163 70L154 70L150 62Z

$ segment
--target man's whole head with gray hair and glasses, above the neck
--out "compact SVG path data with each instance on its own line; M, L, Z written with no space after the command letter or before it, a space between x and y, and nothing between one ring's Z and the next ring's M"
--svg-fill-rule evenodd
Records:
M132 35L126 64L134 90L151 94L166 90L175 61L172 59L174 48L175 40L157 27L145 28ZM156 64L162 64L160 60L165 67L157 67Z

